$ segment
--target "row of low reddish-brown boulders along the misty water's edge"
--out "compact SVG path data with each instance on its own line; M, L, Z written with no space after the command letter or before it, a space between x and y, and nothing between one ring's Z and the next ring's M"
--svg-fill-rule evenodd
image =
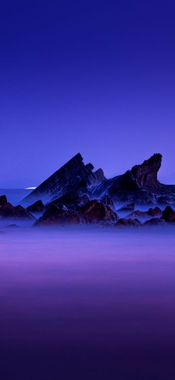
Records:
M89 199L88 194L66 193L61 197L43 204L36 201L27 209L7 202L5 195L0 196L0 220L31 221L34 226L83 225L94 224L116 227L175 225L175 211L170 207L162 211L159 207L147 211L135 210L135 204L127 204L120 211L132 211L121 218L115 211L115 205L108 195L101 199ZM38 218L38 213L41 215ZM38 219L36 219L36 217ZM144 221L146 219L146 221Z

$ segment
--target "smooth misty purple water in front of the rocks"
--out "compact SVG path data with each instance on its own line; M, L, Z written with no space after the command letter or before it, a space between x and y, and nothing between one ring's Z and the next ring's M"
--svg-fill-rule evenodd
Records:
M4 228L3 380L175 379L175 228Z

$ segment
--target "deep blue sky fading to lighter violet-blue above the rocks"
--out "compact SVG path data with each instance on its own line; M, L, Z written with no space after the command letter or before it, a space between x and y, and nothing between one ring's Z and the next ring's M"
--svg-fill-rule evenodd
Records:
M0 52L1 182L35 186L77 152L106 176L160 152L175 183L174 1L4 2Z

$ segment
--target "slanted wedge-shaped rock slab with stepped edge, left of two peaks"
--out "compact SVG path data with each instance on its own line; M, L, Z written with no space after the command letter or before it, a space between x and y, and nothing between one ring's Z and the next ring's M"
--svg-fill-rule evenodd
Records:
M54 195L64 195L72 189L87 188L88 186L100 183L105 179L102 169L93 172L93 165L85 165L80 153L76 154L70 161L55 171L35 190L24 198L24 202L44 199ZM86 191L84 191L86 192Z

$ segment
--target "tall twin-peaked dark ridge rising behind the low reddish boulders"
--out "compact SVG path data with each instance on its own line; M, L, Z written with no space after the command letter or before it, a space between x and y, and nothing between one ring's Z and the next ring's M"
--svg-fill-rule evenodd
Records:
M88 194L90 199L102 199L111 208L115 202L175 205L175 185L163 185L157 179L161 159L161 154L155 153L141 165L106 179L102 169L94 172L92 164L85 165L78 153L27 195L23 202L30 204L39 199L51 202L65 194L70 194L71 198Z

